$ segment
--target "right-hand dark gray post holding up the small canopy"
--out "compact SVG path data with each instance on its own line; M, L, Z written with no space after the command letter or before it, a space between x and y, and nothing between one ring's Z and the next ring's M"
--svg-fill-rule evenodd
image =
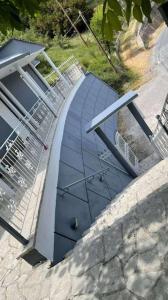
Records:
M153 133L148 127L148 125L146 124L146 122L144 121L136 105L133 102L131 102L127 105L127 107L129 111L132 113L132 115L134 116L134 118L136 119L136 121L138 122L138 124L140 125L140 127L142 128L143 132L146 134L147 138L150 140L150 137L152 136Z

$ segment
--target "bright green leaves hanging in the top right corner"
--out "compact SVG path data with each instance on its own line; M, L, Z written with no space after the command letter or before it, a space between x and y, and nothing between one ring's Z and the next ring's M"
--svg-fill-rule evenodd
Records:
M152 3L162 4L166 0L104 0L102 32L106 40L112 40L114 33L123 29L131 17L139 22L144 18L151 22Z

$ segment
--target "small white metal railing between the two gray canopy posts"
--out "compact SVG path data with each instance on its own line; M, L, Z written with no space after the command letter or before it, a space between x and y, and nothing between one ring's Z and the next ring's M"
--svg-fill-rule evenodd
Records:
M138 172L139 171L139 162L135 153L132 151L128 143L124 140L121 134L117 131L115 135L116 147L127 160L127 162L132 166L132 168Z

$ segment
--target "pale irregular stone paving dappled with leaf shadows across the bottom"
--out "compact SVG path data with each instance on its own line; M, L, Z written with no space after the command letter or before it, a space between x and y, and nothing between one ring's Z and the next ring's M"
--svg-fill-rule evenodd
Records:
M0 299L168 299L168 160L136 179L53 268L16 260L0 243Z

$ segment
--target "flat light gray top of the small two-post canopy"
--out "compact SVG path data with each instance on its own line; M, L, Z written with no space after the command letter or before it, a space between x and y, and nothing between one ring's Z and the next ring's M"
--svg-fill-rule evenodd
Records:
M97 115L92 121L90 121L86 126L86 132L89 133L92 130L95 130L102 123L104 123L104 121L107 120L110 116L112 116L114 113L119 111L122 107L131 103L137 97L138 97L138 94L133 91L130 91L127 94L125 94L124 96L122 96L120 99L118 99L116 102L114 102L108 108L106 108L103 112L101 112L99 115Z

